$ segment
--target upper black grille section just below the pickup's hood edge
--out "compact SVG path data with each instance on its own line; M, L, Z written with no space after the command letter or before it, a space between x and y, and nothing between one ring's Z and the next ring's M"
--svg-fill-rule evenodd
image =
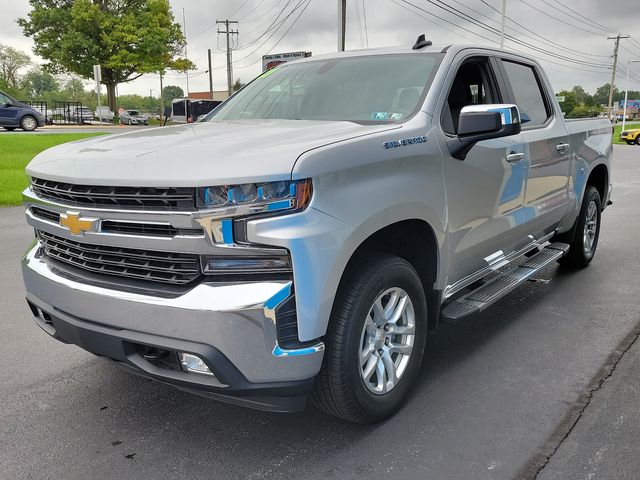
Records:
M108 187L31 179L31 189L40 198L87 208L194 211L195 188Z

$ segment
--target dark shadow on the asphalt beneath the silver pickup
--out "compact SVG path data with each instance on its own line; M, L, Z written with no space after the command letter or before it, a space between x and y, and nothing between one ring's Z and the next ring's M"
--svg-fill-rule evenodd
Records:
M248 410L128 375L101 361L94 368L102 382L111 384L108 395L83 400L92 402L96 410L93 440L102 446L119 442L110 454L135 453L138 458L155 458L160 463L179 454L179 463L188 465L194 477L198 477L197 469L205 467L207 471L242 472L243 478L251 477L247 472L260 478L283 470L315 471L322 476L316 468L322 468L328 458L345 455L354 445L375 444L389 425L406 423L414 432L428 427L430 417L442 413L443 395L456 401L456 392L445 379L451 375L457 382L473 382L467 376L473 373L463 371L465 363L475 361L476 352L522 322L527 311L547 301L550 278L556 289L572 278L556 267L541 275L544 278L540 281L526 283L485 312L455 326L442 325L428 340L423 368L407 405L386 422L353 425L324 415L311 405L301 414ZM450 391L443 392L443 385ZM74 396L72 402L80 401L78 394ZM179 446L178 451L172 445ZM372 465L355 461L352 468L357 476Z

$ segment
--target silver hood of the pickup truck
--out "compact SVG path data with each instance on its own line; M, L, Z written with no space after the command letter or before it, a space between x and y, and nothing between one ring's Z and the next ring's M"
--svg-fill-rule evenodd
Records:
M283 179L304 152L399 125L261 120L203 122L59 145L33 177L86 185L184 187Z

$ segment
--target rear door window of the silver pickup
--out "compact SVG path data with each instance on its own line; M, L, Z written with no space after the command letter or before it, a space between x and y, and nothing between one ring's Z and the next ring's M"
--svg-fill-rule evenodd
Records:
M533 67L503 60L516 105L524 126L542 125L551 116L544 100L538 75Z

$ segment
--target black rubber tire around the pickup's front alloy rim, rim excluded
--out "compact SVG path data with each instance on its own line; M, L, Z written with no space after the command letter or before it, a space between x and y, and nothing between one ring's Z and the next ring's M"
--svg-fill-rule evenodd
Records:
M365 385L361 374L362 332L373 303L394 287L404 290L413 305L413 350L395 386L386 393L375 394ZM340 282L325 339L326 352L311 400L324 412L355 423L373 423L392 415L401 407L418 375L426 335L425 293L411 264L383 253L354 259Z

